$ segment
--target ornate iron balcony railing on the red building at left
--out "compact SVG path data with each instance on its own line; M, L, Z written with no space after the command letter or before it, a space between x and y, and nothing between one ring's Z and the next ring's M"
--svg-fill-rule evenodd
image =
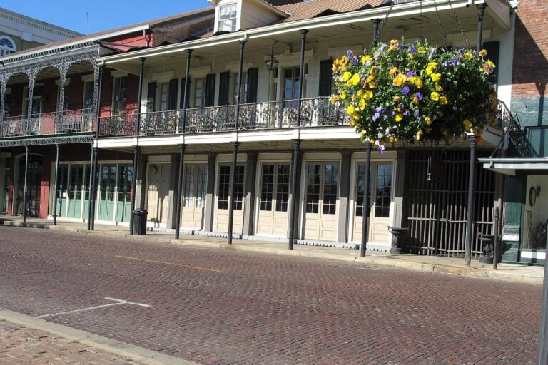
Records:
M6 117L0 121L0 138L92 132L94 115L81 109Z

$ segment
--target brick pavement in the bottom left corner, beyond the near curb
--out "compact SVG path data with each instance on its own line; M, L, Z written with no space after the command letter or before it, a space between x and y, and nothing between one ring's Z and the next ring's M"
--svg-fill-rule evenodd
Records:
M0 363L36 365L143 364L4 320L0 320Z

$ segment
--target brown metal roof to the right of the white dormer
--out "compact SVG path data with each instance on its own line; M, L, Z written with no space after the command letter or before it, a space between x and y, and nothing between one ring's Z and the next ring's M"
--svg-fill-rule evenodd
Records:
M384 0L310 0L295 4L278 6L278 9L289 14L283 22L312 19L328 14L348 13L382 5Z

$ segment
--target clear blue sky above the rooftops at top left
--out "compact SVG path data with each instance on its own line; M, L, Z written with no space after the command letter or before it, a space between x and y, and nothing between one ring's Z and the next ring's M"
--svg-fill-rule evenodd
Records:
M0 8L81 34L211 6L206 0L0 0Z

